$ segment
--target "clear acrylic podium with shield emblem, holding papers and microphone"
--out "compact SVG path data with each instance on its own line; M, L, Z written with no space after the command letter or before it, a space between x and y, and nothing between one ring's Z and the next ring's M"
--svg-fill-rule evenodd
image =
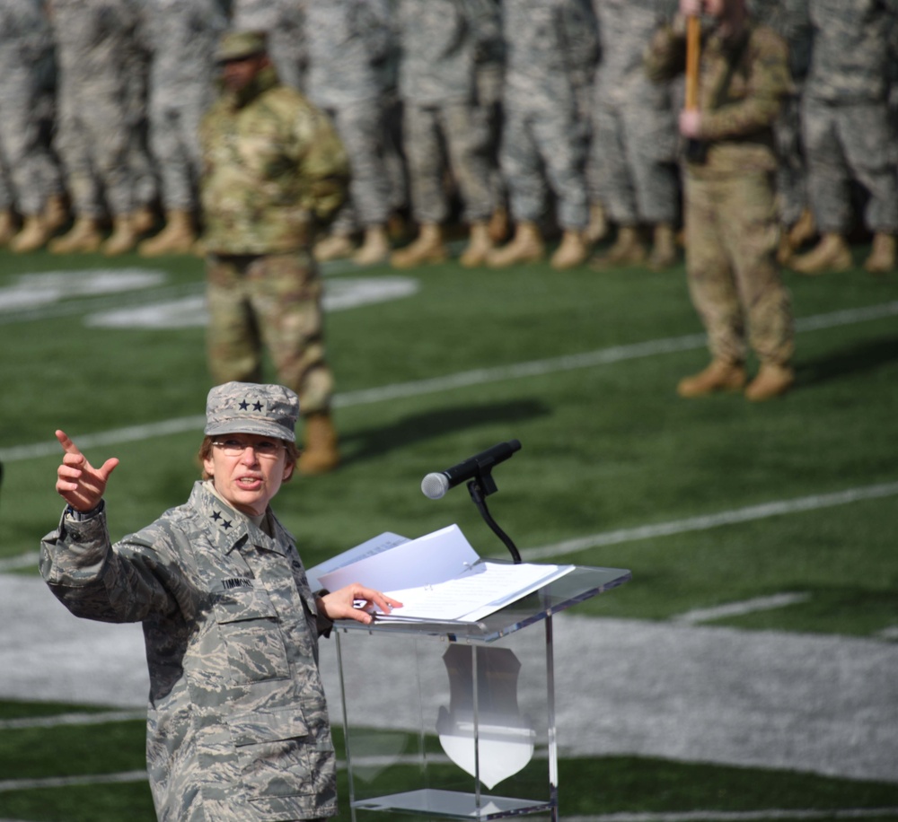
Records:
M376 813L557 820L552 615L629 579L577 566L476 623L341 620L354 822Z

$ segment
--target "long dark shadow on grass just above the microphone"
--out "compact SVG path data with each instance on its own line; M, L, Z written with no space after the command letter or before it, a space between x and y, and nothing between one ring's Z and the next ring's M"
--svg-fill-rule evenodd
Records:
M495 423L511 425L519 420L533 419L550 412L551 408L538 400L521 400L484 406L443 408L404 416L390 425L341 435L343 463L348 465L381 457L397 448L405 448L413 442L426 441L445 433ZM515 433L509 430L506 439L513 439L514 436Z

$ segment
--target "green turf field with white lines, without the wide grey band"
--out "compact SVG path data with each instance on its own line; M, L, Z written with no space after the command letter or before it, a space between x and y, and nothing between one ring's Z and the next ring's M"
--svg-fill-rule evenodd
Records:
M855 250L859 261L866 249ZM88 278L100 270L102 279ZM147 271L157 275L124 289ZM898 634L898 274L867 275L858 264L840 275L785 276L798 321L797 385L751 404L738 395L676 397L677 380L707 362L682 266L607 274L336 267L329 293L385 277L410 278L417 290L329 311L345 464L297 478L275 508L310 566L384 530L416 537L452 522L480 555L503 556L464 488L433 502L419 485L430 471L517 438L523 448L496 469L489 506L524 559L633 573L578 615L666 621L797 592L788 607L747 608L713 625L887 642ZM15 560L37 550L61 510L56 428L95 463L121 460L107 494L113 538L187 497L201 437L191 419L209 388L202 325L153 328L131 315L110 327L109 312L195 303L202 282L201 262L189 258L0 252L7 573L36 573L33 562L17 569ZM187 422L160 433L172 420ZM145 782L42 782L143 767L141 721L13 722L73 710L0 703L0 819L154 818ZM898 819L898 763L895 771L893 783L876 783L566 758L562 818L740 812L754 820L781 818L779 810Z

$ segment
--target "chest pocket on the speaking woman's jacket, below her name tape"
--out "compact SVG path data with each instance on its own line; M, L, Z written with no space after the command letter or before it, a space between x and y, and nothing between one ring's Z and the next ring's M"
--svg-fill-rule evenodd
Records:
M290 676L277 610L265 590L230 590L216 601L215 613L235 684Z

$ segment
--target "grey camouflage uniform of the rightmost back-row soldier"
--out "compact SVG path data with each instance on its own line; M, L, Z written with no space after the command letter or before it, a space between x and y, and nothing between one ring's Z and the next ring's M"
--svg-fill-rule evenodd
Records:
M821 232L851 223L850 179L869 192L874 232L898 232L895 145L886 104L895 0L808 0L814 26L802 110L808 195Z

